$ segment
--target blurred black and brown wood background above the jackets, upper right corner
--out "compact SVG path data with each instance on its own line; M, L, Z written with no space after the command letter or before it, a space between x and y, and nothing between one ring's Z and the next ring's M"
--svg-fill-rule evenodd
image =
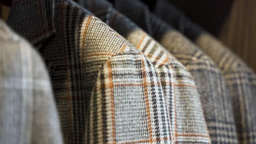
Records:
M256 71L255 0L171 0Z

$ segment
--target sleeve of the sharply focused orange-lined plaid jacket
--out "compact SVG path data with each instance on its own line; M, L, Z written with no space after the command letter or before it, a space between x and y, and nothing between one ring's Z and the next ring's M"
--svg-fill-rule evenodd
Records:
M141 53L119 53L98 73L87 143L170 142L170 117L158 74Z

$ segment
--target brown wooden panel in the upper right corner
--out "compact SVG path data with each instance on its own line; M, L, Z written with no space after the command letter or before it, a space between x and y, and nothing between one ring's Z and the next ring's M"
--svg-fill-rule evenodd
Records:
M234 1L219 38L256 71L255 0Z

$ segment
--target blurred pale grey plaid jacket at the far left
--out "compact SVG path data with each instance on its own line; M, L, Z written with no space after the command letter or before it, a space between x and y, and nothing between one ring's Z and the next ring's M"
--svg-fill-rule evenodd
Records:
M48 71L0 20L0 143L63 143Z

